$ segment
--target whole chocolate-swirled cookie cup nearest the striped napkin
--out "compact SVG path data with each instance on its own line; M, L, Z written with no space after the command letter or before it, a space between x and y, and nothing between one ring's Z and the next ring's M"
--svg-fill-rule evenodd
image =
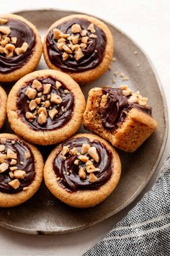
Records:
M45 163L44 179L50 192L76 208L105 200L120 179L119 155L108 142L79 134L58 145Z

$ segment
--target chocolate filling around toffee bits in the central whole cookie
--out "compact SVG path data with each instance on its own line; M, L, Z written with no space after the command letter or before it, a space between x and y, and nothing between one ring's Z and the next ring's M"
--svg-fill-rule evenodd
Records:
M39 90L37 92L37 98L41 98L41 101L39 104L37 104L37 109L30 111L29 108L29 98L25 94L27 91L27 88L32 87L32 81L27 82L26 86L24 86L21 90L19 90L18 93L18 100L17 100L17 113L19 116L21 116L22 120L29 124L29 126L34 129L35 131L39 130L53 130L63 127L65 124L68 123L68 121L71 119L73 115L73 107L74 107L74 98L73 93L71 93L68 88L66 88L66 85L64 85L62 82L60 88L56 88L55 85L55 78L53 77L47 77L47 78L37 78L39 82L41 82L42 87L45 84L50 84L50 93L43 94L43 89ZM39 93L41 94L39 96ZM60 104L56 104L50 101L49 95L55 94L59 95L62 99L62 102ZM48 117L47 121L43 124L40 124L38 122L38 114L35 114L38 111L38 108L44 106L45 101L50 101L50 106L46 108ZM51 119L49 116L49 111L51 109L56 109L58 114L54 117L54 119ZM29 121L26 118L26 113L31 112L32 114L35 114L35 118L32 119L32 121Z

